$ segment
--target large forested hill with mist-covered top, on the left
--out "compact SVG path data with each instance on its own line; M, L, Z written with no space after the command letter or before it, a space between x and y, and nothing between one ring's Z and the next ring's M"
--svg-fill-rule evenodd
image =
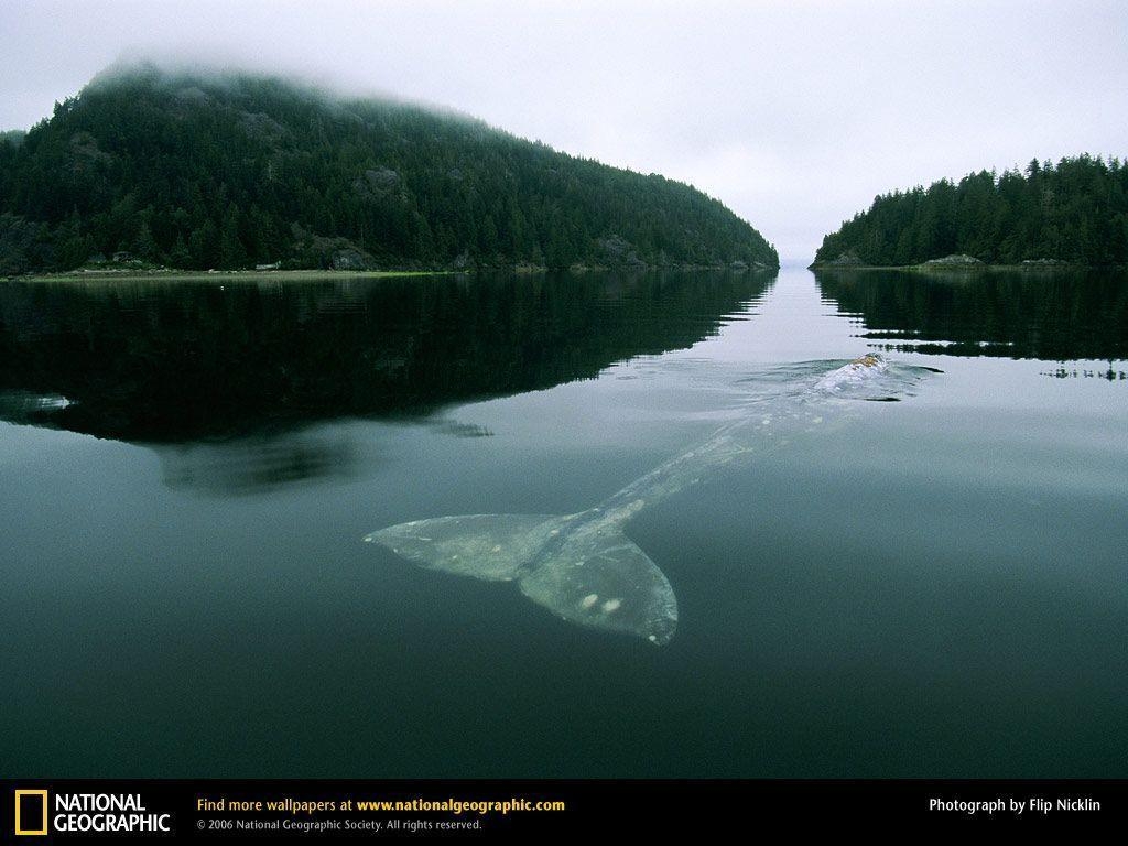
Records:
M777 266L721 202L485 123L253 74L103 74L0 134L0 274Z

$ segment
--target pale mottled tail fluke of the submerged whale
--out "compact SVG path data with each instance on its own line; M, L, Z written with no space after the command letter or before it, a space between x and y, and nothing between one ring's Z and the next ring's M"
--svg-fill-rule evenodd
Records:
M678 605L666 575L618 523L569 514L464 514L390 526L365 541L428 570L517 581L564 619L662 645Z

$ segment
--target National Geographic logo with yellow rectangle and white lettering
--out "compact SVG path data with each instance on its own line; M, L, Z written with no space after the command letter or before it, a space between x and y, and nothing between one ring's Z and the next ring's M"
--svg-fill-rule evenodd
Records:
M53 802L51 801L53 800ZM16 791L16 834L170 834L171 814L150 812L140 793Z

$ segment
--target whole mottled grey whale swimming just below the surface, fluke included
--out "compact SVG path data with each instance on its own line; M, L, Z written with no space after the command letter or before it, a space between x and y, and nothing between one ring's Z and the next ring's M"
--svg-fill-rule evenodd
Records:
M563 515L438 517L390 526L364 540L428 570L515 581L526 597L570 623L664 645L678 627L678 600L666 574L624 534L631 518L708 470L826 429L831 416L847 418L852 403L911 396L931 372L937 371L875 354L790 367L767 374L768 390L751 397L738 420L594 508Z

